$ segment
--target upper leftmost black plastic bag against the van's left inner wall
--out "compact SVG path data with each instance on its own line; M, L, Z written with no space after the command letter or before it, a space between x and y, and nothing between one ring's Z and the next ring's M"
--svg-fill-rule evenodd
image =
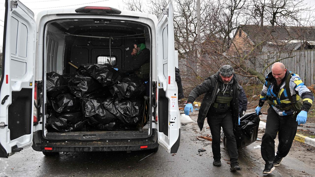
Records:
M69 92L67 81L56 72L46 73L46 89L47 96L50 98Z

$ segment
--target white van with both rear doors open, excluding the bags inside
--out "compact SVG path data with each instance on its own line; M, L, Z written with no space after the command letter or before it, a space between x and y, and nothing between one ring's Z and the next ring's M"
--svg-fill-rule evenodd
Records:
M30 146L45 155L157 150L159 145L169 153L177 152L180 113L174 69L178 61L171 1L158 20L151 14L86 6L42 11L35 21L33 12L20 1L6 0L5 7L0 157ZM108 54L115 63L110 62L113 68L128 67L124 66L124 59L130 55L126 49L132 44L128 36L135 35L145 40L151 54L150 128L142 132L47 130L46 73L73 73L75 69L68 62L76 66L97 64L100 56Z

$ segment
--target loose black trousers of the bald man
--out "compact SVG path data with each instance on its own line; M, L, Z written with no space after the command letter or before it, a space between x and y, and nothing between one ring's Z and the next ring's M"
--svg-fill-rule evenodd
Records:
M261 141L261 156L266 163L273 163L275 159L275 139L278 133L277 157L283 158L288 155L294 140L297 122L296 116L279 116L270 107L268 109L265 134Z

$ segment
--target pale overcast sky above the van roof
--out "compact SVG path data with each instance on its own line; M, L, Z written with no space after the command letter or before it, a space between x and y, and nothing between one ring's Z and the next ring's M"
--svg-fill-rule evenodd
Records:
M142 0L146 2L146 0ZM0 45L3 41L3 21L4 21L4 2L0 0ZM53 8L78 8L83 6L107 6L117 9L123 9L124 4L122 0L20 0L35 14L40 11ZM304 0L305 3L315 5L315 0ZM315 13L315 12L314 12Z

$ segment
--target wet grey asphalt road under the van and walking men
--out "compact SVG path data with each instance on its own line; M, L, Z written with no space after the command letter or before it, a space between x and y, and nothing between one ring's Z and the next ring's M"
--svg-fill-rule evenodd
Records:
M198 112L197 112L198 113ZM193 115L197 113L194 112ZM196 116L192 116L196 120ZM206 122L206 121L205 121ZM76 152L59 153L59 156L45 157L42 152L27 148L13 156L0 158L0 176L315 176L315 149L295 142L289 155L284 158L281 166L270 175L263 175L264 163L261 158L260 145L256 141L250 146L239 150L239 163L242 171L230 172L228 155L221 144L221 167L212 165L211 142L198 140L199 135L210 134L206 129L200 133L197 123L188 123L181 127L180 148L176 154L168 154L163 147L157 153L149 151L138 152ZM260 132L261 138L263 132ZM277 142L278 143L278 142ZM206 151L198 153L198 149ZM311 148L311 150L307 150ZM145 159L138 162L143 157ZM226 160L224 160L226 159Z

